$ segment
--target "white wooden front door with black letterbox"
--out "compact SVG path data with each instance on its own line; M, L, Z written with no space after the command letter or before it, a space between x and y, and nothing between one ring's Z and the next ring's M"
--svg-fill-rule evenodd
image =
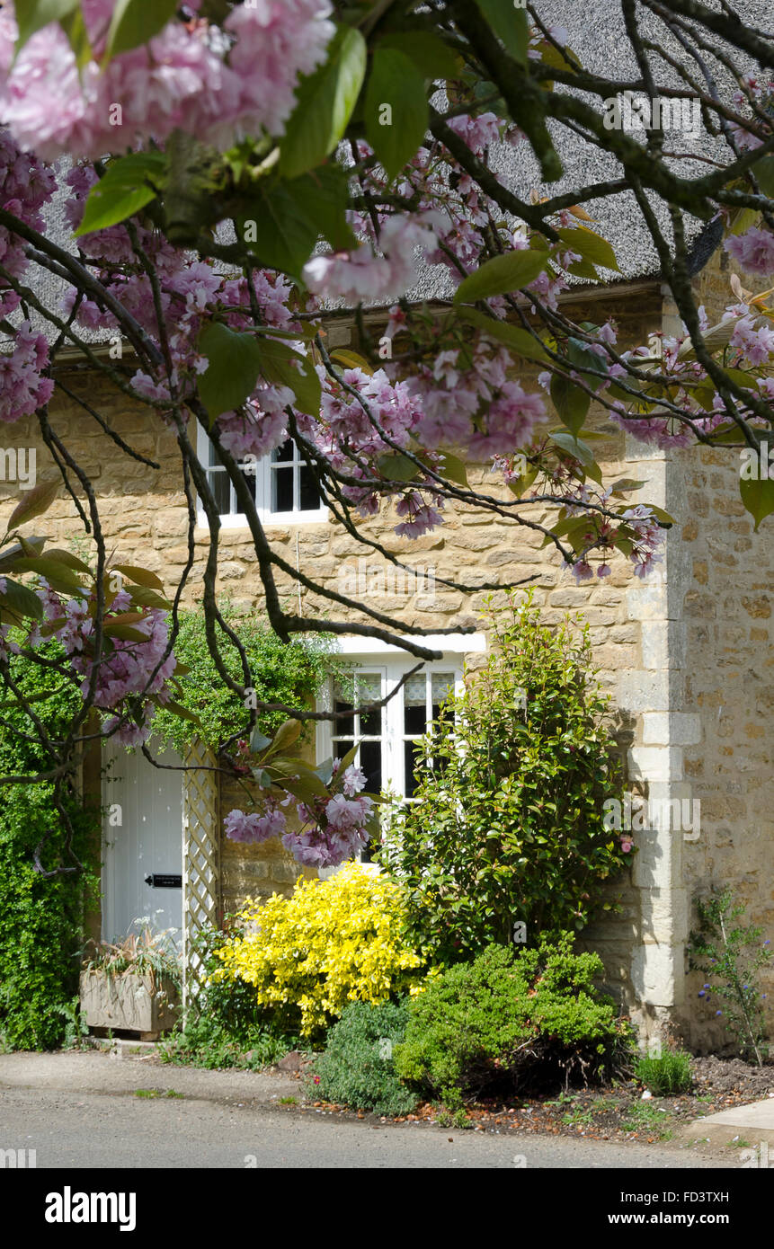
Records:
M154 758L180 764L173 751L154 751ZM154 932L171 929L180 944L183 772L155 768L113 742L104 763L103 937L113 940L149 923Z

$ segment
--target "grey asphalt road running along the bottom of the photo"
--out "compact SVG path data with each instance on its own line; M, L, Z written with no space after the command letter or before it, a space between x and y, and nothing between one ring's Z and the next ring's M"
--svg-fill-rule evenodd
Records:
M314 1110L51 1089L0 1093L0 1148L41 1168L718 1168L691 1150L339 1120ZM520 1155L520 1157L519 1157ZM9 1177L10 1178L10 1177Z

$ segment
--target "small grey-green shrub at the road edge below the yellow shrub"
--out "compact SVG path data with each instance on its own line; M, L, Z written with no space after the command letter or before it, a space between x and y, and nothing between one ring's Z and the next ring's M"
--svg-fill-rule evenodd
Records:
M358 1110L409 1114L416 1095L400 1083L393 1058L406 1019L405 1003L373 1007L353 1002L328 1033L325 1053L314 1065L308 1092Z

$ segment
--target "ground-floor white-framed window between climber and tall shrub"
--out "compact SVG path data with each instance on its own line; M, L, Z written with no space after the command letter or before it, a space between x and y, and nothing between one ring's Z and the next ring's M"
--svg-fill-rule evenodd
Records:
M320 722L316 743L321 762L344 758L359 742L355 762L365 773L366 791L389 789L408 802L413 801L416 789L418 738L438 718L446 696L461 689L459 666L455 659L429 663L423 672L409 677L385 707L366 714L355 708L386 698L415 663L410 656L381 666L364 661L354 668L351 686L341 688L330 682L323 699L324 709L350 714ZM363 861L370 861L368 852Z

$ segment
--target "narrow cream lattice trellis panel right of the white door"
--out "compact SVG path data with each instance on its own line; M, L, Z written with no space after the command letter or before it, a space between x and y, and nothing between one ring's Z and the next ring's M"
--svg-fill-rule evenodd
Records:
M183 1009L195 1003L205 972L194 940L219 922L220 834L218 827L218 773L201 743L186 758L183 773Z

